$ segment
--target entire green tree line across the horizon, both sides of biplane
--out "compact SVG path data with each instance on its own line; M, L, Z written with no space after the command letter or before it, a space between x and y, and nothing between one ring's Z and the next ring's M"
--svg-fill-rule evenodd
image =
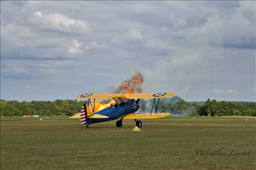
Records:
M39 115L39 116L71 116L81 110L83 101L4 101L0 100L1 117ZM151 111L152 101L141 100L139 112ZM256 116L256 103L237 103L207 99L204 103L188 103L179 96L162 99L158 112L168 112L178 116Z

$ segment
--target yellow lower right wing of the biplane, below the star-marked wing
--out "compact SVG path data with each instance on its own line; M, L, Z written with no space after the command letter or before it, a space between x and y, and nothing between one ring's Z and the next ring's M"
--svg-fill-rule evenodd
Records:
M123 119L145 119L145 118L163 118L170 116L170 113L131 113Z

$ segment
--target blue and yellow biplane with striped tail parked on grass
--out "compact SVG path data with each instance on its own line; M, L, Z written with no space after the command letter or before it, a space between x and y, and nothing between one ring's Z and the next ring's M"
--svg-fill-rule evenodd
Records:
M136 126L142 127L139 119L163 118L170 116L170 113L157 113L159 100L164 97L171 97L173 93L155 94L92 94L84 93L77 95L77 99L87 99L82 106L80 113L81 124L89 126L109 120L116 120L116 127L122 127L125 119L134 119ZM107 104L99 104L96 99L108 99ZM140 99L153 99L150 113L135 113L140 108ZM103 106L103 107L102 107Z

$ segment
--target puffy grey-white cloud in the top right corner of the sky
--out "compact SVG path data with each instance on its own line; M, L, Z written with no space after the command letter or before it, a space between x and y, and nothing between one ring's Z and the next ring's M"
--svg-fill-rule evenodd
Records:
M186 38L197 45L255 48L255 2L240 2L227 16L208 17L204 25L190 29Z

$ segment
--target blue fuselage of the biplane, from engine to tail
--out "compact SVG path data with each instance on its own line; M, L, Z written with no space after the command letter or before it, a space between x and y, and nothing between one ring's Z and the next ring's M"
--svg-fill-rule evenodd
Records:
M97 113L93 114L100 114L107 116L108 118L90 118L88 117L86 122L87 124L95 124L99 122L106 122L109 120L115 120L118 118L122 118L129 113L135 113L138 110L138 104L134 100L125 101L124 103L117 104L116 106L109 106L104 110L100 110Z

